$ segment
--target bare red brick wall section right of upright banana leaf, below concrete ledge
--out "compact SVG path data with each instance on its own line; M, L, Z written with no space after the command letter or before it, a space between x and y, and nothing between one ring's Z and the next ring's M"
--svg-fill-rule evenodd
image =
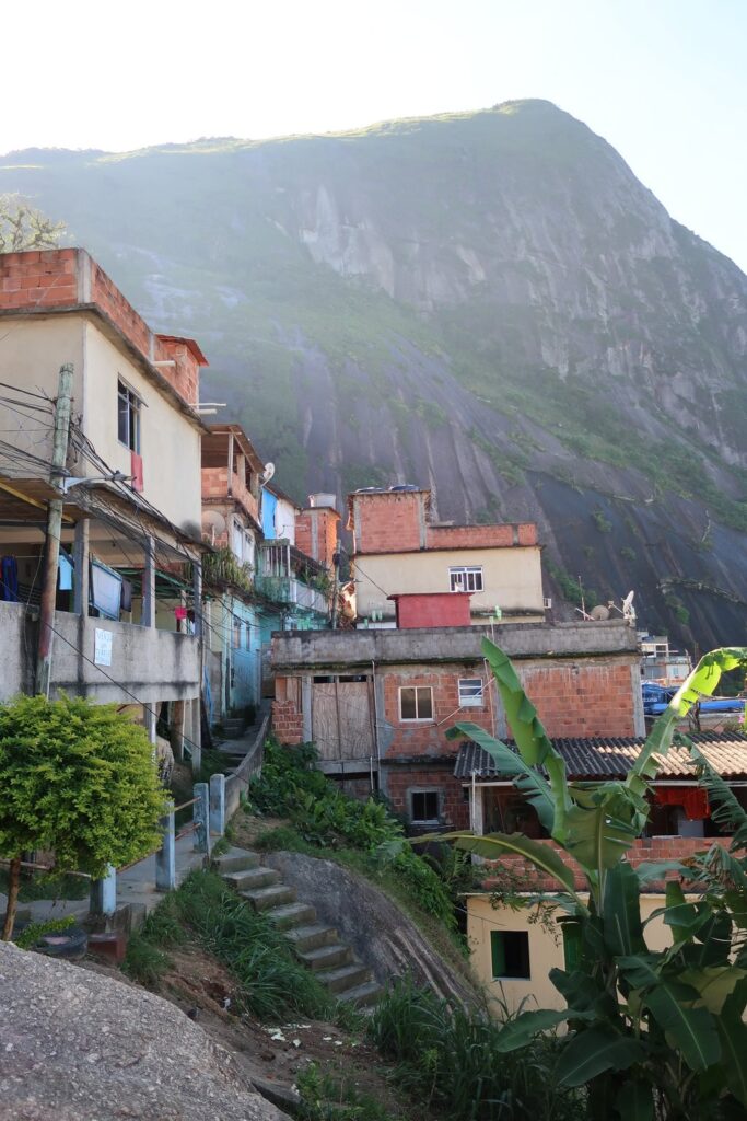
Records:
M635 735L627 664L515 664L548 735Z

